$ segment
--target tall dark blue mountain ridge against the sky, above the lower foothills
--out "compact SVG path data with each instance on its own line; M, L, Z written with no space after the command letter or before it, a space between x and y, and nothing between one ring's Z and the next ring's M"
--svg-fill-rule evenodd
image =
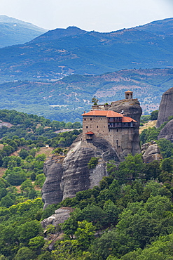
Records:
M1 48L0 81L173 67L172 27L169 18L109 33L77 27L51 30L27 44Z

